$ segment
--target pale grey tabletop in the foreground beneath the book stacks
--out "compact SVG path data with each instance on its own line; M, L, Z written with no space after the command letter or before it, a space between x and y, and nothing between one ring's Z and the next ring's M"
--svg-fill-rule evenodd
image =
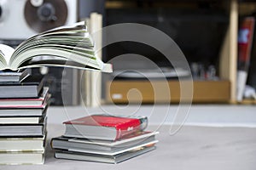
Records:
M80 111L68 108L68 111ZM59 113L57 113L59 111ZM137 156L117 165L55 159L49 140L64 132L61 124L65 116L61 108L49 110L48 142L44 165L0 166L0 169L61 169L61 170L102 170L102 169L174 169L174 170L254 170L256 167L256 128L255 127L196 127L183 126L170 135L169 125L160 126L157 149ZM55 113L53 113L55 112ZM50 115L52 114L52 115ZM79 116L79 113L74 113ZM158 126L159 127L159 126ZM155 129L154 125L150 126Z

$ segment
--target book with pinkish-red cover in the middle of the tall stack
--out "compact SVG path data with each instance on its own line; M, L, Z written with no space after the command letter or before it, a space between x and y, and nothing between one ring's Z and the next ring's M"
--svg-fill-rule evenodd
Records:
M18 99L0 99L0 107L33 107L44 105L50 98L49 88L44 87L42 93L38 98L18 98ZM1 116L1 113L0 113Z

